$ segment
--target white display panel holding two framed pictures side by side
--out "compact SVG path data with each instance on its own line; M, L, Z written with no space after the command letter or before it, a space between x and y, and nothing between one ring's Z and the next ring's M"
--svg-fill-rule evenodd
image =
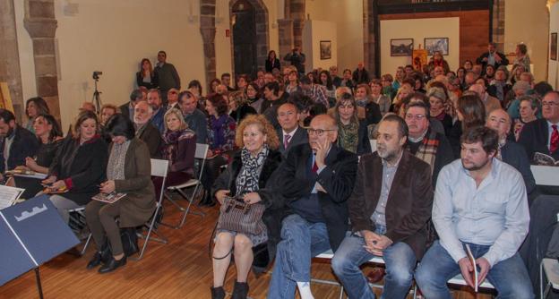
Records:
M414 48L425 48L424 38L449 38L449 55L444 59L451 70L460 64L460 18L430 18L381 21L381 73L395 73L398 66L411 64L411 56L391 56L390 40L414 38ZM431 56L427 57L431 58Z

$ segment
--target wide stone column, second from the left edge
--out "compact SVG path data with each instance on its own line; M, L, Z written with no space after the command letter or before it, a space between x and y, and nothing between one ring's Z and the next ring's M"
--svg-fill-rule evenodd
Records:
M25 29L33 41L37 95L47 101L51 115L60 119L56 71L54 0L25 0Z

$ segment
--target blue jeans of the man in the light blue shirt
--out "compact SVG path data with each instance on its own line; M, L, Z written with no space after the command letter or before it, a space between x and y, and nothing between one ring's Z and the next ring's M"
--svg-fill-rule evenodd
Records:
M486 254L490 246L469 243L469 248L477 259ZM416 282L426 298L450 299L452 296L446 282L458 274L460 266L437 240L417 266ZM487 280L495 286L497 298L534 298L528 270L518 253L507 260L499 261L489 269Z

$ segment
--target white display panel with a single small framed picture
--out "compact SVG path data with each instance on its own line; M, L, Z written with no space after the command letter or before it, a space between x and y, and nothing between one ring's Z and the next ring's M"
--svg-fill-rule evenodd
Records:
M321 40L331 41L331 58L320 58ZM303 28L303 48L305 49L305 72L311 72L316 68L328 70L331 65L338 65L338 38L336 35L336 23L331 21L305 21Z

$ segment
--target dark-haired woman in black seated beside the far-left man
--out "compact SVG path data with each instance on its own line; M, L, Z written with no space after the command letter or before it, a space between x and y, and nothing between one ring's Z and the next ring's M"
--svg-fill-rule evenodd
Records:
M35 153L35 158L26 157L25 163L16 169L30 170L38 174L47 174L48 167L52 164L56 151L63 141L62 129L53 115L37 115L34 118L35 136L39 139L39 148ZM40 179L12 176L6 185L25 189L22 198L29 199L43 190Z

